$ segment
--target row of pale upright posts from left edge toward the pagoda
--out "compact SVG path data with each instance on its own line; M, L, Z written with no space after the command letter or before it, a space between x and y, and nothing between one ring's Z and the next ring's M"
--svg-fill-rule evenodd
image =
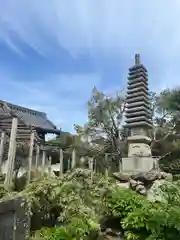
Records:
M14 165L16 161L16 148L18 146L18 142L16 139L17 136L17 127L18 127L18 120L17 118L13 118L12 120L12 128L11 128L11 135L9 138L9 151L8 151L8 159L7 159L7 172L5 173L5 185L6 187L11 187L12 186L12 180L13 180L13 171L14 171ZM3 141L4 141L4 132L1 134L1 141L0 141L0 170L2 166L2 155L3 155ZM64 166L63 166L63 150L60 149L59 147L56 147L56 151L58 151L59 154L59 164L57 166L53 166L51 164L51 157L47 161L47 151L46 147L51 146L46 146L46 145L40 145L36 141L36 135L35 132L32 130L29 136L29 143L27 143L28 147L28 158L23 159L23 164L25 163L26 169L23 167L20 168L19 171L22 173L26 170L28 170L28 179L27 179L27 184L31 181L31 171L34 169L41 169L42 171L47 170L47 168L51 171L53 167L56 167L55 171L59 172L59 175L63 174L64 171ZM52 147L53 148L53 147ZM35 152L35 156L34 156ZM35 162L33 162L33 157L35 157ZM83 158L83 157L82 157ZM105 155L105 159L107 158L107 154ZM56 164L57 165L57 164ZM68 170L76 168L76 150L72 150L72 156L71 159L68 160ZM58 168L58 169L57 169ZM96 171L96 160L89 158L89 169L92 169L92 172ZM106 169L106 174L107 174L107 169ZM4 173L3 173L4 174Z

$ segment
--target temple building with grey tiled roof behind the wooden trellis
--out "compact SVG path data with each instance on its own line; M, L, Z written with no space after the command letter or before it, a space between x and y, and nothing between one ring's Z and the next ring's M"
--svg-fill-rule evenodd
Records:
M12 131L14 119L16 119L16 126L15 130ZM15 149L10 151L12 149L10 146L12 133L15 136L13 140L13 148ZM13 155L16 160L23 159L24 165L27 165L30 142L33 144L32 165L37 162L37 159L40 163L46 134L60 135L61 130L47 118L44 112L0 100L0 168L3 162L10 158L10 155ZM19 149L26 152L27 156L22 157L22 153L18 152ZM35 156L35 151L38 152L38 158Z

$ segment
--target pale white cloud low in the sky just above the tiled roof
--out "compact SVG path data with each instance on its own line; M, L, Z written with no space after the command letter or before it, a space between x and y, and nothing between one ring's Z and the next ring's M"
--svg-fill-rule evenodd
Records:
M17 82L1 73L1 99L47 113L58 127L73 131L73 124L86 121L86 102L98 75L53 75L42 82Z

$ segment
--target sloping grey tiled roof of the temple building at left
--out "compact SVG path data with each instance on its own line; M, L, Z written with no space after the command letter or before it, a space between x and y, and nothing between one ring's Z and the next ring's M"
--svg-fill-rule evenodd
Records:
M8 106L11 114L19 117L25 124L33 126L36 129L41 129L47 133L59 134L60 130L47 118L43 112L35 111L29 108L17 106L5 101L1 101Z

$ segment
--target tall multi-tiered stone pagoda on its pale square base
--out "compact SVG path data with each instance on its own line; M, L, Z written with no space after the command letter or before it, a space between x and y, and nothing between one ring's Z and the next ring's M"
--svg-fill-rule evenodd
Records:
M128 157L123 159L123 171L148 171L153 168L151 155L152 117L149 101L147 69L135 55L135 64L129 69L127 87L126 124L128 129Z

